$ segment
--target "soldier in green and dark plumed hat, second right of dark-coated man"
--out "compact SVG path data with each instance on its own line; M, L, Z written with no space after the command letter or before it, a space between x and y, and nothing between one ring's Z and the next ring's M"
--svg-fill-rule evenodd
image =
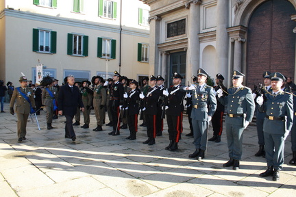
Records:
M93 107L95 109L95 116L97 119L97 127L93 131L103 131L103 115L105 114L105 103L107 99L107 94L105 88L101 84L103 78L96 76L93 78L95 81L95 88L93 92Z

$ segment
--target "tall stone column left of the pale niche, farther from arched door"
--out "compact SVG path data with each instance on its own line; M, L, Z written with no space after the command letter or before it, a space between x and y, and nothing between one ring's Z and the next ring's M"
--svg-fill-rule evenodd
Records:
M192 75L197 75L199 68L199 38L200 32L200 0L186 3L189 9L188 17L188 50L186 54L186 81L191 81Z

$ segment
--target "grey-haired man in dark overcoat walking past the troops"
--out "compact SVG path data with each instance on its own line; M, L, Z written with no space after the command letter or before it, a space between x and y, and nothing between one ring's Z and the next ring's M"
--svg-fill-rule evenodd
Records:
M66 117L65 137L76 140L76 135L73 129L73 118L76 114L77 107L84 111L84 105L79 92L79 88L74 86L75 78L73 75L67 77L67 83L60 88L58 95L58 114Z

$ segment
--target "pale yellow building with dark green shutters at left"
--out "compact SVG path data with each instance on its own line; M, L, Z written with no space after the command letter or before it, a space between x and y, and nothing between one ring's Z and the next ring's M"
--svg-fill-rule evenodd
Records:
M18 86L21 72L78 81L114 70L149 74L149 5L138 0L0 1L0 79Z

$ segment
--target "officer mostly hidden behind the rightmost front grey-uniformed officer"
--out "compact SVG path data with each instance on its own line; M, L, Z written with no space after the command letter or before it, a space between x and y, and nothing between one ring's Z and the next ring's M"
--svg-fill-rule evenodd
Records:
M264 88L267 91L271 91L271 79L270 79L271 72L265 71L262 74L262 77L264 79ZM254 97L256 99L256 94L254 94ZM256 100L255 100L256 101ZM263 123L264 118L266 116L266 113L260 112L258 110L258 105L256 105L256 127L257 127L257 135L258 135L258 144L259 144L259 150L255 154L256 157L265 157L265 151L264 151L264 133L263 133Z

